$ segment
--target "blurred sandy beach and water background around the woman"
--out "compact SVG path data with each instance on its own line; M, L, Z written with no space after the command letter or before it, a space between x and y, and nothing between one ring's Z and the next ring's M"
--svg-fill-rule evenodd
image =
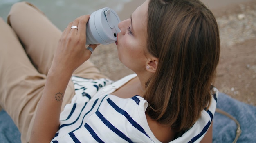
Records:
M0 0L0 17L6 20L15 2ZM76 17L110 7L121 20L145 0L27 0L37 6L59 29ZM221 54L214 85L237 100L256 105L256 0L202 0L216 17ZM104 60L102 60L104 59ZM100 45L91 61L112 80L133 73L118 59L115 44Z

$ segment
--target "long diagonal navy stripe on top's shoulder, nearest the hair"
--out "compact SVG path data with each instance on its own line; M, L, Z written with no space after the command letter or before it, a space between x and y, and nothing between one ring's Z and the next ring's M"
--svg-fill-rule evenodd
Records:
M140 132L145 134L147 137L149 137L148 134L145 132L145 130L136 121L134 121L126 111L119 108L110 98L108 98L107 101L117 112L124 115L126 119L130 122L130 124L132 124L132 126L134 126L135 128L137 128L137 130L139 130Z

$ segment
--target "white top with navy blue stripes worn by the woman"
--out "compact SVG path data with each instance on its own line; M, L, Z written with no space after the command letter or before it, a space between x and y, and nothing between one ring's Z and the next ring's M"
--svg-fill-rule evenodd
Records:
M72 76L75 95L61 113L60 128L52 143L160 143L151 132L145 115L148 102L135 95L111 95L136 74L117 82ZM218 90L208 110L203 110L193 127L171 143L200 142L208 130L216 108Z

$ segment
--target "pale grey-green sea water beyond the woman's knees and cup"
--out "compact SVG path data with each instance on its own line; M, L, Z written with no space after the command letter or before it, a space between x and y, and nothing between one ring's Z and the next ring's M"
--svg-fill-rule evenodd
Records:
M11 6L22 0L0 0L0 17L6 20ZM59 29L81 15L91 14L103 7L110 7L118 14L125 4L133 0L26 0L38 7ZM142 1L142 0L140 0ZM137 6L136 6L137 7Z

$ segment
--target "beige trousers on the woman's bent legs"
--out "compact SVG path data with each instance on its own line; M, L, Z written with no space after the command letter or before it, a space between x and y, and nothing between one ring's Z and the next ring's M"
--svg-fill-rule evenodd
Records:
M0 17L0 106L11 116L25 143L29 141L61 31L27 2L14 4L7 22L9 25ZM76 69L74 75L106 78L90 61ZM73 95L74 85L70 81L63 106Z

